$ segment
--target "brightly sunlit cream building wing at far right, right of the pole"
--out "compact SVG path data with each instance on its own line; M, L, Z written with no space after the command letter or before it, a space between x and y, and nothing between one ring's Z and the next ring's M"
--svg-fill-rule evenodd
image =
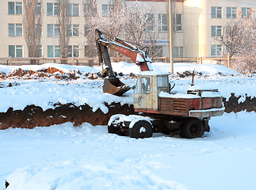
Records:
M185 57L215 57L224 47L216 37L221 36L227 21L236 19L237 11L250 17L256 10L255 0L186 0L183 4L183 47ZM254 17L255 17L254 12Z

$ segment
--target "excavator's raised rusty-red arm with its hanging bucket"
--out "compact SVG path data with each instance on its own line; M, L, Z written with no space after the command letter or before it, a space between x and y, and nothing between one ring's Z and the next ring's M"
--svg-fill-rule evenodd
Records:
M111 39L108 34L101 32L99 28L95 29L95 33L99 63L103 65L104 61L106 66L106 68L102 70L102 76L105 77L104 85L102 86L103 92L122 96L131 89L131 87L120 82L120 80L115 76L109 58L109 48L131 58L133 62L139 66L140 71L152 70L152 60L147 56L149 48L147 46L142 47L128 43L127 41L120 40L120 38L117 37ZM144 49L145 51L143 51Z

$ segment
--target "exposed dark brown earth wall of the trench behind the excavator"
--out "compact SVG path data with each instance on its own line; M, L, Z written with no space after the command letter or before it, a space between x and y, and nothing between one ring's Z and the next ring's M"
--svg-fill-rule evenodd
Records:
M231 93L228 100L224 98L225 112L256 112L256 97L246 97L246 100L239 103L240 97L235 97ZM43 110L36 105L28 105L23 110L13 110L9 108L7 112L0 112L0 129L8 127L32 128L39 126L51 126L54 124L63 124L72 122L74 126L78 126L84 122L93 125L108 124L110 116L114 114L134 114L132 105L120 105L113 103L105 104L109 108L109 112L104 114L100 109L96 112L92 111L89 105L75 106L73 104L55 105L55 108Z

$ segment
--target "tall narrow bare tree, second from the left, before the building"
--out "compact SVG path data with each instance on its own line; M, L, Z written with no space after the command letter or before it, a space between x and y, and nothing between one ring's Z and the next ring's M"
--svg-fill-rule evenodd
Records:
M71 13L69 0L56 0L59 5L58 25L59 25L59 49L61 63L67 63L68 44L71 36Z

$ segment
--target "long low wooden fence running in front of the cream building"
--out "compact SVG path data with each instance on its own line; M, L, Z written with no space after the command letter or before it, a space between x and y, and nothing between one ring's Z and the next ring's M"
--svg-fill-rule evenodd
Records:
M110 58L113 62L120 62L120 61L127 61L128 63L132 63L132 60L130 58ZM227 62L227 67L230 67L230 63L232 59L246 59L242 57L222 57L222 58L203 58L203 57L197 57L197 58L174 58L174 62L194 62L197 64L202 63L220 63L223 61ZM251 59L251 58L250 58ZM253 58L256 59L256 58ZM155 57L153 58L154 62L164 62L164 63L170 63L170 59L167 57ZM0 58L0 64L3 65L40 65L44 63L65 63L70 65L78 65L78 66L94 66L98 64L97 58L67 58L67 59L60 59L60 58L13 58L13 57L7 57L7 58Z

